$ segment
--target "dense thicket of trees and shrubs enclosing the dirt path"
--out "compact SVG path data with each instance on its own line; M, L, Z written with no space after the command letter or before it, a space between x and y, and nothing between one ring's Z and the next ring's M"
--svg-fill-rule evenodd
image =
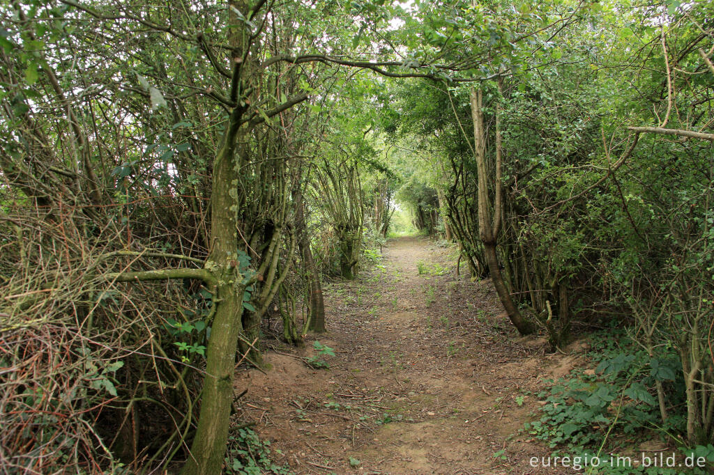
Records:
M523 333L626 328L651 377L608 384L710 444L713 14L0 5L2 470L218 473L260 445L229 439L236 366L326 330L321 281L395 213Z

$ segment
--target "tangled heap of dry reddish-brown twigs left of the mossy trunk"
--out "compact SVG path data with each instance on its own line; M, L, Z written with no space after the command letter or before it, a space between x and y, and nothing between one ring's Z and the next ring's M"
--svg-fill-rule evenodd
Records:
M0 215L0 474L102 474L140 459L166 469L187 452L203 363L181 354L159 309L201 304L181 281L97 280L131 262L186 261L126 251L119 236L69 206L51 220Z

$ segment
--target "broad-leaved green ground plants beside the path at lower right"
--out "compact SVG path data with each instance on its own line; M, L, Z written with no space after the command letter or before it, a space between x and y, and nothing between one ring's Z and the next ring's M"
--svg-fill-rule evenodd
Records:
M595 374L576 369L568 378L546 382L550 387L538 394L545 402L540 409L541 416L526 424L528 433L547 442L551 448L558 451L564 448L568 454L581 459L598 454L601 448L602 453L615 450L622 434L630 440L651 439L653 434L668 439L673 434L681 434L685 419L679 414L670 414L662 422L655 395L657 382L665 387L681 387L681 368L676 354L662 352L658 357L649 357L621 330L599 332L590 341L593 344L590 356L598 363ZM681 391L667 394L667 407L683 404ZM709 456L703 446L693 450ZM683 451L683 456L686 453ZM601 471L592 473L660 473L645 471L643 467L608 466L605 462L603 458Z

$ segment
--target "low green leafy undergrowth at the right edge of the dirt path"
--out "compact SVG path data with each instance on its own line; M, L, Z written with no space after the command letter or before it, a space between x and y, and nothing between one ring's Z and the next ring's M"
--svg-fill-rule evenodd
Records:
M573 369L568 377L545 380L548 388L538 394L545 402L540 418L524 429L555 449L551 456L570 456L581 462L597 457L597 467L583 466L588 474L712 473L714 446L685 445L684 382L674 350L662 347L650 356L624 330L595 333L590 343L590 367L595 367L594 371ZM658 385L665 389L665 417L658 401ZM673 448L670 452L675 454L675 467L666 463L643 466L638 446L653 440ZM623 455L610 459L610 454ZM687 466L691 465L685 463L687 457L704 466Z

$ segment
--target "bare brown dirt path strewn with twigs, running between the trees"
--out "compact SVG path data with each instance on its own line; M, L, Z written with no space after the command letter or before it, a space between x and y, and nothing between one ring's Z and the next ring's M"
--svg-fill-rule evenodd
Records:
M236 394L248 389L238 421L256 422L277 464L298 474L558 473L530 465L550 450L521 429L542 380L581 364L587 345L546 354L544 339L519 337L489 280L456 276L456 255L425 238L390 240L358 280L326 285L328 333L302 349L273 342L268 374L238 373ZM336 352L321 357L328 369L304 363L315 339Z

